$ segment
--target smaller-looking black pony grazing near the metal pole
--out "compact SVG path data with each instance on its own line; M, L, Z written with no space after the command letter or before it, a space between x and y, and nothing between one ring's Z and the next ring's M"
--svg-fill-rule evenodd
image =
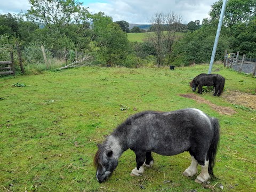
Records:
M190 87L192 87L192 91L196 91L196 87L198 86L197 93L199 94L202 94L203 86L213 86L215 89L213 95L220 96L224 89L225 78L219 74L200 74L197 75L189 84Z

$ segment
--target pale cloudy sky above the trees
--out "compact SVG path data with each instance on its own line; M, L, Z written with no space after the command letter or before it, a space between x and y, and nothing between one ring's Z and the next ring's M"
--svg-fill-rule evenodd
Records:
M76 0L89 7L90 13L102 11L113 21L125 20L129 23L146 24L155 13L182 15L183 23L209 18L211 5L217 0ZM26 12L30 8L28 0L0 0L0 14Z

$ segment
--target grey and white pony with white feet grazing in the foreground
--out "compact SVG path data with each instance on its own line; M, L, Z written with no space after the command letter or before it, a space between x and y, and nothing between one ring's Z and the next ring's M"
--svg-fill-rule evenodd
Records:
M183 172L186 177L201 173L196 182L202 183L213 175L215 155L219 142L219 122L201 110L188 108L171 112L143 111L126 119L99 145L94 156L97 180L106 181L116 169L118 158L131 149L136 155L137 166L131 175L141 175L143 166L154 164L151 152L176 155L189 151L191 164Z

